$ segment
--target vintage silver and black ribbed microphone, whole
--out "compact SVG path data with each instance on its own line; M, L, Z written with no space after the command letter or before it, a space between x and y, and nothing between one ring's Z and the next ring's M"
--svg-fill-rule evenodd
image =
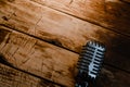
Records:
M102 67L105 46L99 41L92 40L83 46L77 64L75 87L91 87L94 84Z

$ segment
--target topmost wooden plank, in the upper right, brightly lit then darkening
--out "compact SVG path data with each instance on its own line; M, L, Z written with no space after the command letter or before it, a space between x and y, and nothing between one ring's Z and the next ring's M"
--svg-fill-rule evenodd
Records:
M121 2L120 0L31 1L130 36L130 5Z

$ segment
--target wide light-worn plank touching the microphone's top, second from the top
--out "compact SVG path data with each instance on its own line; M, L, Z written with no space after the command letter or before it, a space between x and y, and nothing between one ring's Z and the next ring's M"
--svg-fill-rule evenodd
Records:
M88 40L99 40L107 47L105 63L130 72L129 37L36 2L1 0L0 25L32 35L75 52L80 52L81 47Z

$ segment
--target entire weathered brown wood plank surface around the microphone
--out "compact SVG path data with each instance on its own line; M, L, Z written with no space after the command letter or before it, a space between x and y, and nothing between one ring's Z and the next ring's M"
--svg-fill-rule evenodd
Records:
M0 87L74 87L91 39L107 48L98 87L129 87L129 0L0 0Z

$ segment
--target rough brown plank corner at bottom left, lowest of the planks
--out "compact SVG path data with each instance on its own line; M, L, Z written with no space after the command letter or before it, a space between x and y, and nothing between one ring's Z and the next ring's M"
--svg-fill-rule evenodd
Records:
M60 87L0 63L0 87Z

